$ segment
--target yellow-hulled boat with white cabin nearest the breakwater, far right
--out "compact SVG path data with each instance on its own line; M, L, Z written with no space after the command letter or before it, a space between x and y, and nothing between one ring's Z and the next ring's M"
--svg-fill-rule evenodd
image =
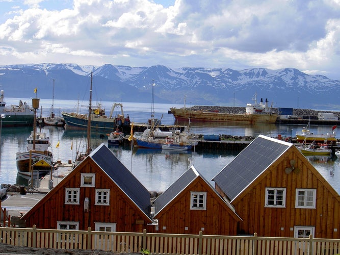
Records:
M309 123L310 121L308 121L307 126L302 127L301 132L296 132L296 138L298 142L305 141L306 143L310 143L312 141L315 141L318 143L323 142L324 140L327 140L327 143L336 142L335 129L337 125L334 125L332 127L332 131L328 132L327 134L314 134L309 130Z

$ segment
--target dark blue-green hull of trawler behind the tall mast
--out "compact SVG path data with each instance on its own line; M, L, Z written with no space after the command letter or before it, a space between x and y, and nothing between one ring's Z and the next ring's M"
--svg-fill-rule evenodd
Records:
M87 129L88 119L84 115L72 114L62 112L65 123L69 127L76 129ZM82 117L83 116L83 117ZM130 125L130 123L123 123L123 125ZM116 118L96 118L91 117L91 130L93 131L107 131L111 132L119 126L118 119Z

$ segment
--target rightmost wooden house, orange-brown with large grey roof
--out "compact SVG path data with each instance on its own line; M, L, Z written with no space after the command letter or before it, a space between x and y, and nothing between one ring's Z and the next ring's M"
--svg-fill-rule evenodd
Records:
M340 196L294 144L260 135L213 181L238 234L340 238Z

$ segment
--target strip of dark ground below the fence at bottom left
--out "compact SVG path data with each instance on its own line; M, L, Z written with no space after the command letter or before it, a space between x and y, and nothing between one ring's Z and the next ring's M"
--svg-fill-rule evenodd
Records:
M48 248L31 248L22 246L13 246L0 243L0 253L5 254L80 254L80 255L137 255L139 253L113 253L103 250L73 250L73 249L48 249Z

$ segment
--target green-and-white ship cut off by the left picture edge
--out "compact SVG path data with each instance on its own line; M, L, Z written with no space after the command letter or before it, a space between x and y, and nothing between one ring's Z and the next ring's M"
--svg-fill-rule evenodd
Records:
M5 117L2 126L32 126L34 122L34 109L19 100L19 105L6 106L4 100L5 92L0 91L0 113Z

